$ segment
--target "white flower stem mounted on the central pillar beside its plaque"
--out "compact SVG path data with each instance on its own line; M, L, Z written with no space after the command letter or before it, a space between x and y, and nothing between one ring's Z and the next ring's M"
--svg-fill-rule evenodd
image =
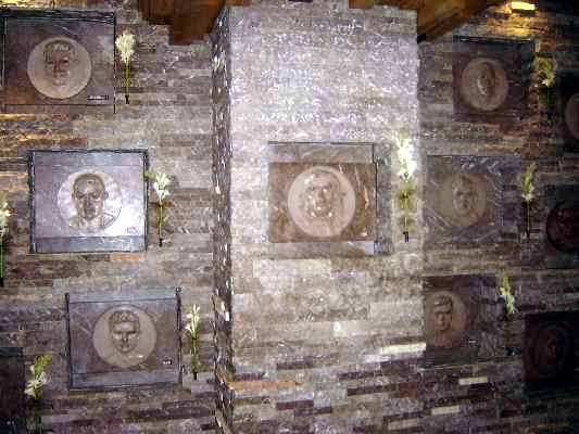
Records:
M412 224L411 197L414 193L414 173L418 168L418 163L414 158L414 145L411 137L405 131L400 131L397 140L397 155L400 165L398 176L401 180L399 193L400 205L402 208L402 232L405 241L408 241L408 231Z

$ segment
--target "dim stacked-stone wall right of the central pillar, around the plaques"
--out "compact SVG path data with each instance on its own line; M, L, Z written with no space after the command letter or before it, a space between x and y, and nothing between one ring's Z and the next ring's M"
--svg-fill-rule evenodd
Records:
M570 54L578 42L578 11L551 1L534 3L537 11L531 14L512 13L506 5L491 8L453 34L419 46L418 95L424 152L427 155L499 156L504 159L518 156L521 170L532 162L538 166L530 239L525 233L521 200L515 195L519 194L520 174L513 173L512 181L516 182L506 191L512 204L505 206L504 216L518 219L519 237L512 241L425 250L426 275L500 273L506 270L512 278L518 308L512 326L511 354L495 352L484 362L424 371L423 425L428 433L571 433L577 430L576 393L558 388L537 396L526 391L524 381L525 317L575 310L579 301L576 291L570 290L576 288L576 270L545 269L547 208L544 187L576 183L579 178L577 154L564 153L562 124L551 124L545 116L539 94L538 68L539 59L553 59L561 78L562 72L579 66L577 56ZM531 43L527 64L516 71L523 81L528 77L528 97L514 117L503 119L506 122L456 118L453 47L454 41L463 37ZM558 82L555 92L557 87ZM499 321L500 317L501 312L496 310L499 327L504 326ZM501 334L499 330L496 337Z

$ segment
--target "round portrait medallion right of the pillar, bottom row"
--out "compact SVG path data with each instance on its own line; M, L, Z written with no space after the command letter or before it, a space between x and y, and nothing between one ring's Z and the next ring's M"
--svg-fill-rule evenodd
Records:
M461 297L438 291L426 297L426 342L436 348L454 348L463 344L467 312Z

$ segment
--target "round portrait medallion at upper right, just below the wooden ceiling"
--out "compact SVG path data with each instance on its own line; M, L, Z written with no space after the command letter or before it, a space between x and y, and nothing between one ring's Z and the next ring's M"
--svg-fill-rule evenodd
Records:
M508 81L501 62L495 59L473 59L461 77L463 99L474 108L490 112L500 107L508 93Z

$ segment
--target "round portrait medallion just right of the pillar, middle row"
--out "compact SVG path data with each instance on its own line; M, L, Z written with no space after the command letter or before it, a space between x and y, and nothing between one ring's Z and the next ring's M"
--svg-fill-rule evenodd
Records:
M487 210L487 181L480 175L450 175L442 181L439 209L455 226L477 224Z

